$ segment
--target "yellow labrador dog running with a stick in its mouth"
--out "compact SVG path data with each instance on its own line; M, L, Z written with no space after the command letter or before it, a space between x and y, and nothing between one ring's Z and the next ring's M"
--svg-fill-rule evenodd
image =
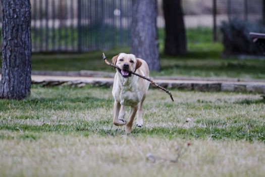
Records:
M137 126L143 125L142 105L149 87L147 80L132 75L129 71L149 77L149 68L144 60L136 58L133 54L121 53L112 58L112 63L121 69L121 71L116 69L112 90L115 99L113 123L115 125L126 124L125 130L129 134L136 113ZM125 121L125 106L131 107L128 122Z

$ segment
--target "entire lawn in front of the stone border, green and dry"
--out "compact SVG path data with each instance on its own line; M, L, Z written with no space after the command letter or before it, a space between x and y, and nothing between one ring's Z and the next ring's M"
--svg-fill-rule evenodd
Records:
M149 90L129 136L112 124L111 89L35 85L0 100L0 176L263 176L260 95L172 93Z

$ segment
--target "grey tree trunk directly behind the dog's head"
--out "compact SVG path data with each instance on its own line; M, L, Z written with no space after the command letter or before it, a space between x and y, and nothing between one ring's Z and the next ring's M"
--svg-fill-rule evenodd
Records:
M150 70L160 70L156 0L133 0L131 53L145 60Z

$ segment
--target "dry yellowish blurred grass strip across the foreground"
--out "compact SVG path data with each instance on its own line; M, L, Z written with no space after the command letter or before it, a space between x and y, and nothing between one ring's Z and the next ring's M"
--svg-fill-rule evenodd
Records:
M259 142L5 130L0 135L1 176L262 176L265 172L265 146ZM187 151L177 163L146 158L151 153L174 159L182 146Z

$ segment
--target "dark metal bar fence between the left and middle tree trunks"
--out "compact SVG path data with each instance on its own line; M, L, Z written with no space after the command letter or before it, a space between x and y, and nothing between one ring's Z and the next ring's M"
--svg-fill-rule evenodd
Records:
M86 52L128 46L131 3L31 0L32 52Z

